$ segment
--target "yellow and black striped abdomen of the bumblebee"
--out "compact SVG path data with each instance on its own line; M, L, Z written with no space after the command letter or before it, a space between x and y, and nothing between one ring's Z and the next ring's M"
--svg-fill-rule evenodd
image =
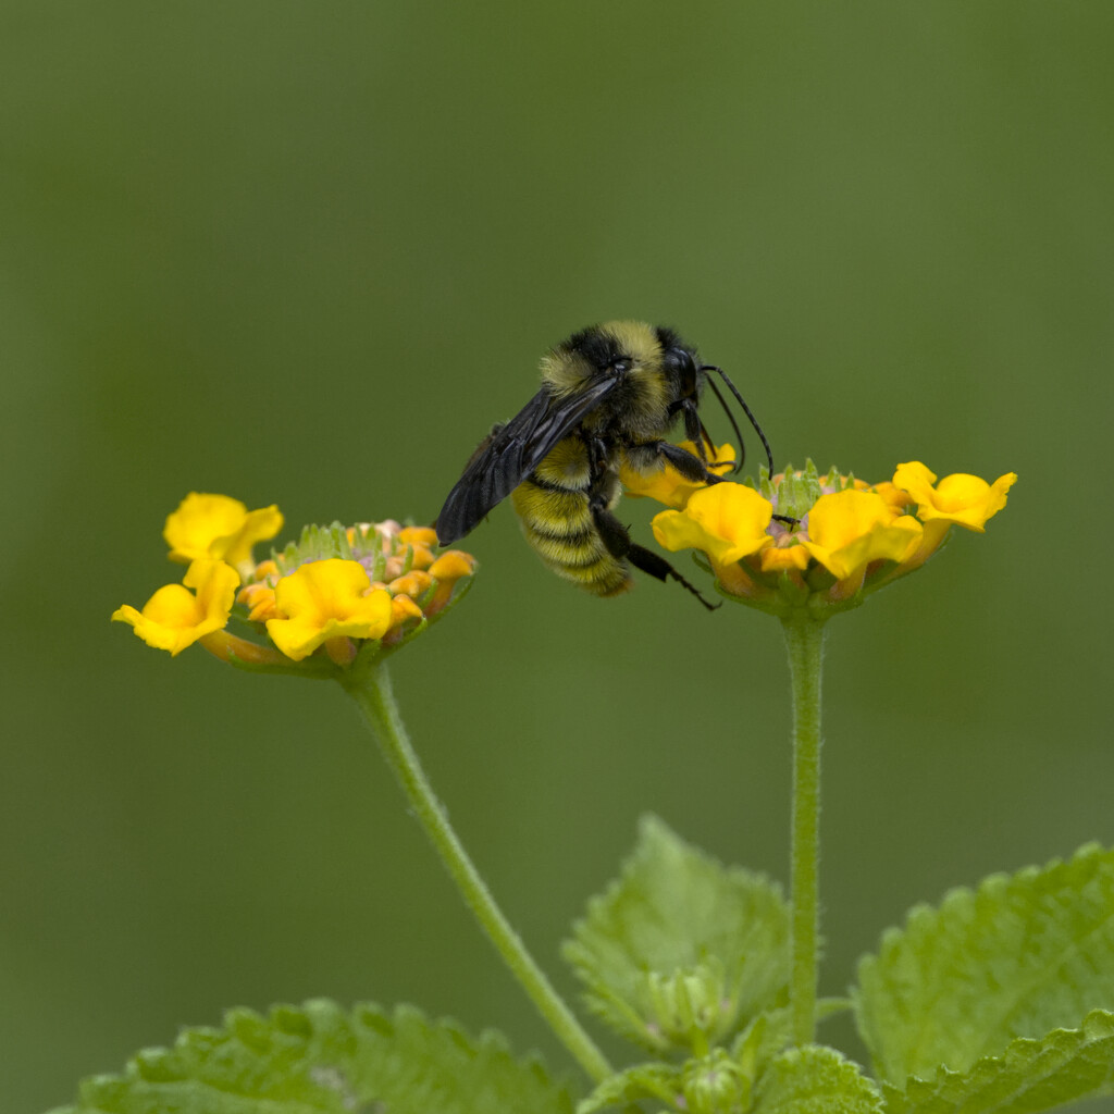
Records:
M609 477L607 506L618 499ZM526 540L566 580L597 596L615 596L633 584L629 566L604 546L588 507L588 453L579 437L557 447L510 495Z

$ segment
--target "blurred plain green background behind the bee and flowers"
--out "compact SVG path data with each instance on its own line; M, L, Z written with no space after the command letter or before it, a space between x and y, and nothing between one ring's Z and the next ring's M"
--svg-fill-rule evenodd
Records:
M780 463L1020 476L986 537L832 624L822 990L913 901L1114 840L1112 32L1019 0L6 4L4 1108L312 995L569 1066L339 688L108 616L177 578L189 490L277 501L287 538L431 520L599 320L696 341ZM582 595L509 507L468 545L395 687L573 994L559 940L643 811L784 879L780 633L675 585Z

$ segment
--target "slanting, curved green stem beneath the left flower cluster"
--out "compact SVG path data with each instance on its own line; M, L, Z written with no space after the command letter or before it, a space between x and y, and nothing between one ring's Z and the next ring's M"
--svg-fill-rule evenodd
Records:
M434 795L410 744L394 702L387 666L381 662L364 664L358 659L343 684L360 705L360 711L363 712L387 764L402 785L418 822L456 882L466 905L476 915L480 927L502 956L511 974L565 1047L596 1083L614 1075L610 1064L580 1027L545 973L526 950L518 934L508 924L452 830L449 817Z

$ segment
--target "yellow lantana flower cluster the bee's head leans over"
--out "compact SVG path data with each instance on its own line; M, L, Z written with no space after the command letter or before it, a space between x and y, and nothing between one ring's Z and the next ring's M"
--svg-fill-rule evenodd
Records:
M1017 479L957 473L937 482L913 461L868 485L834 469L820 476L810 463L759 491L730 481L693 488L680 476L673 482L672 471L636 480L633 492L673 508L654 518L658 544L703 553L725 595L778 615L861 603L924 565L952 525L981 534Z

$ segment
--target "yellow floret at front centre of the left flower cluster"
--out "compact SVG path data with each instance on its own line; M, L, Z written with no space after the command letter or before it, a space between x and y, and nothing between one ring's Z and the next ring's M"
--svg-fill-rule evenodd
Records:
M331 638L382 638L391 626L391 594L372 588L359 561L331 557L300 566L275 585L283 618L267 619L272 642L295 662Z

